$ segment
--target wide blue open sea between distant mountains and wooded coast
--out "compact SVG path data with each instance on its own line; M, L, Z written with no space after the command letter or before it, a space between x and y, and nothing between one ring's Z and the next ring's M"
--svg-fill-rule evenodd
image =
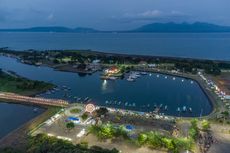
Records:
M230 33L0 33L11 49L91 49L97 51L230 60Z

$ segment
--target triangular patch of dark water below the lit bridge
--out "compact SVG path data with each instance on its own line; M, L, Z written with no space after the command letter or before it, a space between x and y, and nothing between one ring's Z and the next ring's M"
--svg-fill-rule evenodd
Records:
M0 102L0 138L34 118L43 109L35 113L33 107Z

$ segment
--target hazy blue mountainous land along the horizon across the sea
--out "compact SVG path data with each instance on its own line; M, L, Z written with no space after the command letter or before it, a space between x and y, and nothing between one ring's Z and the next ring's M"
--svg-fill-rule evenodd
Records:
M139 28L125 31L103 31L93 28L68 28L62 26L32 27L23 29L0 29L0 32L64 32L64 33L206 33L230 32L230 26L221 26L210 23L152 23Z

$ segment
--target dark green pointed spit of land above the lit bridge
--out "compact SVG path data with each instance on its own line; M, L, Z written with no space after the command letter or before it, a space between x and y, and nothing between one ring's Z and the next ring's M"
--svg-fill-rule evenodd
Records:
M12 73L12 72L11 72ZM24 95L36 94L53 88L54 85L42 81L33 81L17 76L6 74L0 70L0 91L14 92Z

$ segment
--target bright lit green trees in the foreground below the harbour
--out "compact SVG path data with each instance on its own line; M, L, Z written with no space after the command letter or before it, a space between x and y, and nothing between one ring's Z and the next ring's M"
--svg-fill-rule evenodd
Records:
M166 148L174 153L181 150L191 150L193 147L191 138L174 138L158 132L141 132L133 137L132 132L128 132L124 126L116 127L112 124L93 125L89 131L101 140L122 137L124 140L135 142L138 146L147 146L152 149Z

